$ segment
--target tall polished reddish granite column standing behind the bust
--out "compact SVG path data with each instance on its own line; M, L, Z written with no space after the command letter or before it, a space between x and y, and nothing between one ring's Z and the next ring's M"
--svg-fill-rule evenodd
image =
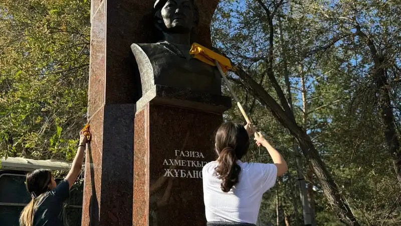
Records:
M218 2L197 0L201 23L193 42L210 47L210 21ZM153 4L92 0L88 121L93 140L86 153L82 225L133 224L134 117L139 97L129 54L132 43L157 41L149 29Z

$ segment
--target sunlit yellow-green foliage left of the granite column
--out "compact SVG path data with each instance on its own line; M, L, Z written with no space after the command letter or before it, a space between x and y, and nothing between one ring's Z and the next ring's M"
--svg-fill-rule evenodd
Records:
M84 125L90 3L0 3L0 156L72 160Z

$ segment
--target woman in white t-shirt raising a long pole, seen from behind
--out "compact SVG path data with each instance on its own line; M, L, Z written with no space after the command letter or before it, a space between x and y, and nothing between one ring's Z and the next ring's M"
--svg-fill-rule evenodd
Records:
M262 195L287 171L287 163L261 133L255 133L258 146L267 149L274 164L247 163L240 159L249 148L252 125L245 128L224 123L216 133L217 161L203 168L203 187L208 226L255 225Z

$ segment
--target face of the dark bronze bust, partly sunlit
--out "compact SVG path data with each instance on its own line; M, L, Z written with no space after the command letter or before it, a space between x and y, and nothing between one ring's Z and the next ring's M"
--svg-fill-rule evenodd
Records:
M193 5L189 0L168 0L161 9L167 32L189 33L194 26Z

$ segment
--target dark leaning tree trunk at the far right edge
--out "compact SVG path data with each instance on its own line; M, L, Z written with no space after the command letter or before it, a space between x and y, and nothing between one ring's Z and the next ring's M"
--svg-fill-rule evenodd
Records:
M380 117L384 124L384 138L387 143L388 152L392 157L393 167L397 176L398 184L401 187L401 150L399 139L395 132L394 115L390 98L390 85L387 79L387 59L377 53L373 41L356 26L356 35L362 38L370 50L374 61L373 78L377 87L378 105Z

